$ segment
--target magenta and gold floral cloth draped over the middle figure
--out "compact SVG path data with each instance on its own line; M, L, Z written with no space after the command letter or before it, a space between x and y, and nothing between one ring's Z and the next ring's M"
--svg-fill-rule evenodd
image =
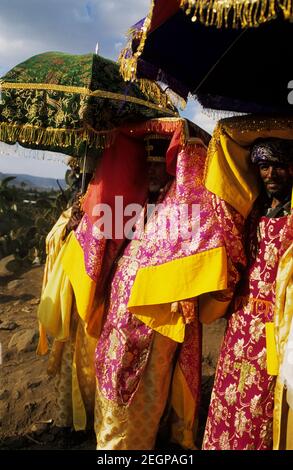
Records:
M203 147L193 144L178 154L176 180L160 203L164 214L180 202L200 204L200 229L192 240L158 238L155 236L157 220L151 217L142 240L132 240L118 263L107 320L96 351L98 382L110 400L118 400L121 404L131 400L150 352L152 330L135 319L127 308L138 269L225 246L227 258L230 258L228 287L233 288L239 280L237 267L245 265L244 219L202 185L205 157ZM218 217L223 217L224 222L221 220L220 224Z

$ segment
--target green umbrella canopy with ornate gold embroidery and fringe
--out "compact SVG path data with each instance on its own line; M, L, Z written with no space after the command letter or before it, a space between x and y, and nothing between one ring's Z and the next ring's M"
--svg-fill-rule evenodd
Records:
M85 147L104 148L125 121L177 115L154 87L149 99L96 54L31 57L1 79L0 140L83 156Z

